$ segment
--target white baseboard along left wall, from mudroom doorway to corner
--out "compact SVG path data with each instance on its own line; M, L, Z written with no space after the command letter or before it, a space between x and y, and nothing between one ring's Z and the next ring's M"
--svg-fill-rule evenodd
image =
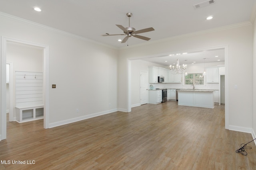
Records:
M93 114L90 114L90 115L81 116L81 117L75 117L75 118L64 120L64 121L58 121L58 122L55 122L55 123L50 123L49 128L57 127L57 126L61 126L61 125L66 125L68 123L74 123L76 121L81 121L81 120L84 120L84 119L89 119L89 118L97 117L97 116L100 116L100 115L106 115L108 113L112 113L112 112L115 112L115 111L118 111L118 110L117 109L112 109L112 110L102 111L102 112L98 112L98 113L93 113Z

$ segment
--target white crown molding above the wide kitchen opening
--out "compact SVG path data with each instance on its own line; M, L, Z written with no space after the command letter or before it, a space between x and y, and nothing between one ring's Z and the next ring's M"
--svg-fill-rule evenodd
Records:
M233 28L237 28L237 27L243 27L243 26L247 26L247 25L252 25L252 23L250 21L246 21L246 22L236 23L236 24L227 25L227 26L223 26L223 27L217 27L217 28L213 28L213 29L206 29L204 31L197 31L197 32L194 32L194 33L188 33L188 34L178 35L178 36L174 36L174 37L149 41L149 42L140 43L140 44L137 44L137 45L130 45L130 46L126 46L126 47L120 47L119 49L122 50L122 49L134 48L134 47L141 47L141 46L150 45L150 44L157 44L157 43L162 43L162 42L166 42L166 41L173 41L175 39L192 37L192 36L196 36L196 35L203 35L203 34L213 33L213 32L218 32L218 31L224 31L224 30L233 29Z

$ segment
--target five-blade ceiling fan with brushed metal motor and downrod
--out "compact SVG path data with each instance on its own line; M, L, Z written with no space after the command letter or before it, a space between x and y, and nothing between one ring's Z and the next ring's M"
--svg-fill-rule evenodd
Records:
M102 36L112 36L112 35L126 35L126 37L124 37L124 39L122 40L121 43L125 43L129 37L136 37L136 38L139 38L139 39L144 39L146 41L150 40L150 38L148 37L144 37L144 36L141 36L141 35L136 35L138 33L145 33L145 32L149 32L149 31L154 31L154 28L150 27L150 28L145 28L145 29L140 29L138 31L136 31L135 28L133 27L130 27L130 17L132 16L132 13L127 13L126 16L129 17L129 27L124 27L122 25L116 25L118 26L120 29L122 29L124 31L124 34L109 34L109 33L106 33L106 35L102 35Z

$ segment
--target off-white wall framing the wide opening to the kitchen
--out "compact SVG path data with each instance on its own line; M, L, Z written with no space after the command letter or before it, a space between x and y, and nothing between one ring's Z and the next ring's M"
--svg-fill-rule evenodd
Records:
M252 24L241 23L238 27L233 26L230 29L205 31L172 38L169 41L126 47L120 50L118 86L128 89L127 61L130 58L228 45L229 127L250 130L252 128L252 36ZM246 61L246 67L239 69L243 61ZM238 85L238 89L234 89L235 84ZM118 91L119 108L128 110L127 96L128 90Z

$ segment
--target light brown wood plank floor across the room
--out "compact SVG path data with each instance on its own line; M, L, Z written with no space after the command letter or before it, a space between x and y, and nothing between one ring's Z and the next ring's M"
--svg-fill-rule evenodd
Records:
M241 120L242 121L242 120ZM255 170L256 146L236 153L249 133L224 128L224 105L214 109L170 101L43 129L43 120L8 122L0 169Z

